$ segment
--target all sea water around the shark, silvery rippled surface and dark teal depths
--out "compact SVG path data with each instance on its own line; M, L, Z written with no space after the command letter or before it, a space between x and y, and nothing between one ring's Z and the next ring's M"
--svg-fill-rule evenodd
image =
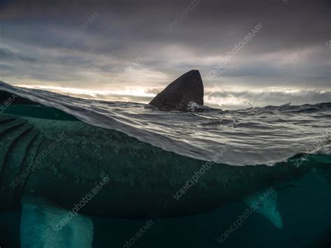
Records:
M197 106L198 111L163 112L140 103L76 99L4 83L0 91L1 113L111 129L139 140L140 145L133 147L137 150L148 143L211 161L220 147L228 145L217 163L230 166L276 166L289 159L300 166L302 160L309 163L307 154L330 161L331 103L245 110ZM10 97L13 101L8 101ZM330 247L330 170L316 170L314 164L311 168L295 185L278 193L282 229L256 213L234 226L247 206L233 202L189 217L154 219L148 228L148 220L91 217L94 247ZM136 235L140 229L144 232ZM20 210L0 213L0 246L20 247Z

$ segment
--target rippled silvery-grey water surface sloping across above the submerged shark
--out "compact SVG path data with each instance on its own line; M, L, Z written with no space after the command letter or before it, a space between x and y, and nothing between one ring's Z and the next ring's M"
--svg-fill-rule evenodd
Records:
M298 154L331 152L331 103L226 111L204 106L202 112L184 113L164 112L141 103L78 99L5 82L0 82L0 92L0 112L15 112L14 106L22 103L43 105L84 123L204 161L212 161L225 146L229 149L216 163L233 166L272 166ZM20 98L13 99L15 95ZM43 115L45 111L51 110L44 110Z

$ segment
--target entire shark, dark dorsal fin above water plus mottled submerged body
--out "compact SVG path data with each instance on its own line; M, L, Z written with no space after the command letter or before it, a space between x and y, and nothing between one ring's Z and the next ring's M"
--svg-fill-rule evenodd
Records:
M16 101L33 105L25 99ZM198 71L189 71L172 82L150 105L186 111L190 103L203 105L203 81ZM22 208L21 246L92 247L94 227L85 214L128 219L180 217L237 200L251 206L261 196L263 201L255 211L282 228L277 189L311 169L311 163L305 162L300 167L293 162L230 166L149 144L133 154L132 147L139 145L139 140L125 133L75 119L1 114L0 210ZM330 161L316 160L315 166L330 170ZM185 194L180 193L197 172L203 176L192 182ZM93 198L62 225L91 189Z

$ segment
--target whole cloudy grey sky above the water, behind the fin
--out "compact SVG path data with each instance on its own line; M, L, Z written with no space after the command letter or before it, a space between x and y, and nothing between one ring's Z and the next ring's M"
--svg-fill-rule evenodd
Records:
M148 103L198 69L205 105L331 101L331 1L1 1L0 80Z

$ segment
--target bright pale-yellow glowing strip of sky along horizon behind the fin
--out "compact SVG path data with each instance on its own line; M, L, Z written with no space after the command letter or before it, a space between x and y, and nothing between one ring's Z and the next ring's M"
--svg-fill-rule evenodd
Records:
M80 89L75 87L61 87L48 85L16 85L28 89L41 89L57 94L78 97L81 99L99 101L126 101L135 103L149 103L157 93L164 87L144 87L144 86L125 86L122 89ZM165 85L166 86L166 85ZM325 90L316 91L315 89L297 89L293 87L264 87L264 88L245 88L245 87L205 87L205 105L212 108L221 109L240 109L263 107L266 105L284 105L293 103L300 105L309 101L316 103L316 97L323 96L324 102L328 101L331 92ZM258 99L258 101L257 101ZM320 101L323 102L323 101Z

